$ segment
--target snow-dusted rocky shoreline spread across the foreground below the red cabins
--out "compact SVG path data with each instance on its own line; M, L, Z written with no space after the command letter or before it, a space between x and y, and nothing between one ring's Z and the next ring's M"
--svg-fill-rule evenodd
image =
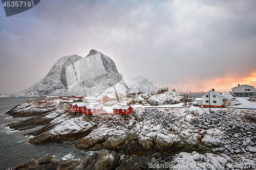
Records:
M99 151L80 161L69 160L72 163L62 169L154 169L157 165L166 165L158 169L178 169L180 163L191 162L219 166L209 169L235 169L234 164L241 167L243 164L238 169L254 169L252 164L256 163L255 111L252 110L137 108L129 117L72 117L63 106L43 108L25 103L7 114L28 117L7 125L10 128L25 130L43 126L26 134L34 136L29 140L32 144L76 141L78 149ZM61 161L46 161L16 169L48 166L57 169L64 165Z

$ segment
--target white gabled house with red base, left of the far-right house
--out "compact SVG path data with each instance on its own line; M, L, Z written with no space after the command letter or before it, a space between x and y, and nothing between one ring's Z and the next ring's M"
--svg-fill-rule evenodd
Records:
M209 90L202 96L203 107L223 107L223 95L215 91Z

